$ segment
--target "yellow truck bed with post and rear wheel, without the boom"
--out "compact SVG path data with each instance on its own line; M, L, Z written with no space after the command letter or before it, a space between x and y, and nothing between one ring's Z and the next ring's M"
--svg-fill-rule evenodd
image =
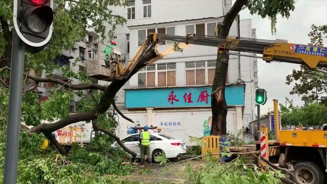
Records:
M274 100L275 117L278 116L277 101ZM279 130L275 119L276 140L270 140L269 160L276 163L281 153L285 161L294 165L291 175L295 183L324 184L327 173L327 131L323 130ZM323 129L323 128L322 128ZM256 142L260 150L260 142Z

